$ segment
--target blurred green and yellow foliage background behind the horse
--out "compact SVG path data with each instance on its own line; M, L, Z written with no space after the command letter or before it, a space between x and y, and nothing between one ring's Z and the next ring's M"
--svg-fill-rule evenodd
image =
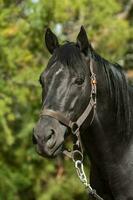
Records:
M32 144L38 79L50 57L44 33L74 41L84 25L96 51L133 77L133 0L0 0L0 200L87 200L71 160Z

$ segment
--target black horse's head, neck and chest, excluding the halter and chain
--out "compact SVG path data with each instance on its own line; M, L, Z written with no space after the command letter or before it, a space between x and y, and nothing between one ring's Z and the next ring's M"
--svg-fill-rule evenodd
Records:
M92 64L97 79L96 111L80 127L91 161L90 184L105 200L133 200L133 88L118 64L95 52L83 27L76 43L60 45L50 29L45 42L52 57L40 76L42 110L77 121L90 102ZM58 117L41 115L33 135L38 153L60 154L68 130Z

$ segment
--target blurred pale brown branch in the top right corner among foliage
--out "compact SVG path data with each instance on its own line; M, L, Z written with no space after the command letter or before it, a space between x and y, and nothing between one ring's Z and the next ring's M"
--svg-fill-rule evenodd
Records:
M132 9L133 0L130 0L129 3L126 5L125 10L117 15L118 19L127 19L131 14Z

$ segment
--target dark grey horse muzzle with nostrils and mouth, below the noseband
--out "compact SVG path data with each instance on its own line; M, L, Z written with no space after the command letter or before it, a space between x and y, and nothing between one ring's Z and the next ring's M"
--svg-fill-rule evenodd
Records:
M66 127L51 117L42 117L33 131L33 144L43 157L55 157L62 152Z

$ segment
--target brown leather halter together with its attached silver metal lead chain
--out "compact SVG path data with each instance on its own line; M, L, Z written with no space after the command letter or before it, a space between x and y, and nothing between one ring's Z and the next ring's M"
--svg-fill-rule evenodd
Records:
M87 181L84 167L83 167L83 146L81 142L81 135L80 135L80 128L87 119L87 117L93 112L92 119L90 121L90 125L93 122L94 116L95 116L95 109L96 109L96 74L93 72L93 63L92 60L90 60L90 79L91 79L91 95L90 95L90 101L84 112L81 114L81 116L77 119L77 121L73 122L67 117L64 116L63 113L59 111L54 111L51 109L44 108L40 116L50 116L52 118L57 119L59 122L64 124L66 127L70 128L72 136L73 136L73 150L68 151L64 150L63 153L67 155L68 157L72 158L73 162L75 163L75 168L77 171L77 175L80 179L80 181L85 185L85 187L88 190L88 193L95 197L97 200L103 200L97 193L96 190L92 189L90 184Z

